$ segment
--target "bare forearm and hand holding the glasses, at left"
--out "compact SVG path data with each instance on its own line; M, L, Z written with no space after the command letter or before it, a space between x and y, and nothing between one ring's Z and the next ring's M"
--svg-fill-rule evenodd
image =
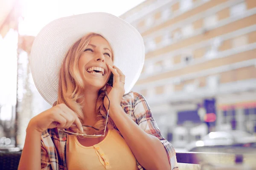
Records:
M47 129L69 128L73 123L82 131L77 115L66 105L56 105L33 117L26 130L26 139L18 170L41 170L41 134ZM44 168L44 166L43 166Z

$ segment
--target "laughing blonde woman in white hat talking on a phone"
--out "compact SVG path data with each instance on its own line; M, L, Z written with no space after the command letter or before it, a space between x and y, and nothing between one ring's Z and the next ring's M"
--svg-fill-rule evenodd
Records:
M144 56L139 32L111 14L64 17L44 27L30 64L53 107L29 122L19 170L177 170L172 144L144 97L130 91Z

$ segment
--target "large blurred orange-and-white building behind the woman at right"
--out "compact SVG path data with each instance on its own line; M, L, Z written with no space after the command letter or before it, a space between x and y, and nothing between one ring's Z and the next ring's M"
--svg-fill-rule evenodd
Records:
M256 132L255 0L145 0L121 17L145 42L133 91L176 147L209 131Z

